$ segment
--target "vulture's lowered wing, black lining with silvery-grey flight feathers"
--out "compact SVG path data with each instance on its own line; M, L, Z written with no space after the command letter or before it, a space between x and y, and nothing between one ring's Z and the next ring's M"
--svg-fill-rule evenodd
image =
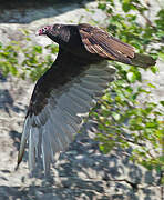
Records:
M75 59L78 60L78 59ZM60 49L58 59L39 79L31 97L21 138L18 164L29 141L29 168L41 157L45 172L53 156L64 150L80 130L82 117L113 80L106 61L83 66Z

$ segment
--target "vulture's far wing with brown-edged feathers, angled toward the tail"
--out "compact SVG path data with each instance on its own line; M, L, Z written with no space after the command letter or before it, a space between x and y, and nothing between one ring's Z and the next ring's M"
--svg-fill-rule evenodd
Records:
M86 23L81 23L78 27L82 42L89 52L131 64L131 58L134 57L135 51L132 46L120 41L96 27Z

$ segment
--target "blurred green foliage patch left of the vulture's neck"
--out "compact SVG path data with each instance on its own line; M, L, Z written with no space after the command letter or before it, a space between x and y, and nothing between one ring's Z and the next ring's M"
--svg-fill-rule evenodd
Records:
M29 32L22 31L23 42L30 42ZM57 44L49 44L44 48L49 52L47 56L42 54L41 46L24 46L20 41L11 41L8 46L0 43L0 71L3 76L10 73L22 79L38 80L52 64L54 60L52 54L58 52Z

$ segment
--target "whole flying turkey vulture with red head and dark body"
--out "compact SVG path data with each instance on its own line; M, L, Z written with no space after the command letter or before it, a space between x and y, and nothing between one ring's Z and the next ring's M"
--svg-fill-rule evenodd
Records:
M28 109L18 154L18 166L29 141L29 168L35 159L48 172L53 156L65 150L80 130L82 117L102 96L115 69L106 60L147 68L155 60L107 32L86 23L53 24L39 30L59 44L51 68L38 80Z

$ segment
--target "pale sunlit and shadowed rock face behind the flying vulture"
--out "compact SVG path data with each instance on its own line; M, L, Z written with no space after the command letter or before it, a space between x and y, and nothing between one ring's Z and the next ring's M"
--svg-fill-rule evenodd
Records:
M153 1L152 1L153 2ZM153 2L152 13L157 10ZM54 22L99 21L104 26L105 14L96 9L95 2L76 1L65 4L41 7L0 8L0 41L21 40L20 28L31 32L32 42L47 46L51 41L34 33L44 24ZM86 8L92 11L89 12ZM164 63L157 62L158 74L143 71L144 81L157 86L153 99L164 97ZM96 131L89 121L71 143L69 150L60 156L48 178L38 170L34 178L29 176L25 153L18 171L18 148L22 132L25 109L34 83L29 80L0 77L0 200L163 200L163 187L155 171L147 171L129 160L131 149L124 152L113 150L110 154L99 151L93 140Z

